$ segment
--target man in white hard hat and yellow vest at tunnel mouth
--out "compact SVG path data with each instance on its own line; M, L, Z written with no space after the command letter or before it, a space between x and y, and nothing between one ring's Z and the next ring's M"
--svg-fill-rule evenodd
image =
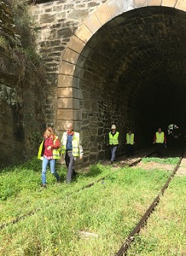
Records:
M113 164L113 161L116 161L116 150L119 147L119 131L116 131L116 125L112 125L111 131L108 135L108 144L111 151L110 162Z

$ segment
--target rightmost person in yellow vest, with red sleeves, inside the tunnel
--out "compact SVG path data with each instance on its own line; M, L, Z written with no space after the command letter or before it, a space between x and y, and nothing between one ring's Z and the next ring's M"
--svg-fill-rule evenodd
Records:
M158 157L162 157L163 146L167 147L167 140L164 131L162 128L158 128L158 131L155 132L153 143L156 145L156 153Z

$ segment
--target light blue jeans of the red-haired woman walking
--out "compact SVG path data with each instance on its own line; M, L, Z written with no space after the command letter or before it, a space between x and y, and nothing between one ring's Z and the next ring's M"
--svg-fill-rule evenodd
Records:
M60 176L57 174L57 171L55 169L56 166L56 159L48 160L47 158L43 158L42 162L42 184L46 184L46 173L47 173L47 165L50 164L51 167L51 173L54 175L54 177L57 179L57 181L60 180Z

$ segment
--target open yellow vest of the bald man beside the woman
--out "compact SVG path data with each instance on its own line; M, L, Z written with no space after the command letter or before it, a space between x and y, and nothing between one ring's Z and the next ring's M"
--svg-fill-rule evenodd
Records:
M61 153L64 154L66 152L66 147L67 147L67 131L64 132L63 137L61 138L61 143L62 143L62 148L61 148ZM81 141L80 141L80 134L79 132L74 132L73 133L73 138L72 138L72 154L74 157L79 157L83 156L83 148L81 146Z

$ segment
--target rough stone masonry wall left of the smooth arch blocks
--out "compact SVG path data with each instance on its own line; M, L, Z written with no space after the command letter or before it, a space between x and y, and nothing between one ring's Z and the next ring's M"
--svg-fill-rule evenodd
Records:
M46 63L47 124L54 125L57 109L57 82L61 55L80 27L83 19L106 0L60 0L31 6L36 30L38 31L38 52Z

